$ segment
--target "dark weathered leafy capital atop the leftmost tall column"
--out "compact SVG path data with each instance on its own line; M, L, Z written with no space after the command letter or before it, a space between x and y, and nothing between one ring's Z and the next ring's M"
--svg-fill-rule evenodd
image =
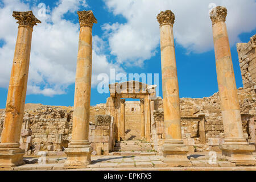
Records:
M19 23L19 26L25 25L33 28L37 25L36 23L41 23L41 21L35 17L32 11L13 11L13 17L18 20L17 23Z

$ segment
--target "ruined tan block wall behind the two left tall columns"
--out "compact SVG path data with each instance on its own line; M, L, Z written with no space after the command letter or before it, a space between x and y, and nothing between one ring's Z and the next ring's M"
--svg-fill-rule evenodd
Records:
M105 104L90 107L90 125L96 124L96 115L105 115L105 112ZM73 107L26 104L20 146L27 154L36 154L38 151L64 151L72 136L72 118ZM0 134L4 119L5 110L2 109Z

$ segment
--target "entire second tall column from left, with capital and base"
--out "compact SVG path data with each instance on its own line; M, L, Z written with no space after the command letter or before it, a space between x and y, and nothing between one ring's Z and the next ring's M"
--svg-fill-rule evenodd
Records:
M92 148L88 140L90 117L90 89L92 78L92 27L97 23L92 11L78 11L80 22L79 52L77 56L75 101L72 140L65 149L64 168L86 168L90 164Z

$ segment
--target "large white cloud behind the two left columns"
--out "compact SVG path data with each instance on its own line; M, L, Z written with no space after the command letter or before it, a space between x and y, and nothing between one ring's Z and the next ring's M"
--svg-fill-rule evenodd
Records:
M40 17L39 9L32 7L35 16L42 21L34 27L30 56L27 94L54 96L64 94L68 86L75 82L77 51L79 42L79 23L63 18L66 13L75 13L79 7L86 9L85 1L60 0L57 6L47 9L47 16ZM15 11L27 11L30 7L19 0L3 1L0 6L0 40L5 45L0 47L0 87L7 88L14 55L18 24L11 14ZM110 63L104 55L104 44L98 36L93 37L93 76L92 86L97 85L97 74L110 68L122 71L118 65Z

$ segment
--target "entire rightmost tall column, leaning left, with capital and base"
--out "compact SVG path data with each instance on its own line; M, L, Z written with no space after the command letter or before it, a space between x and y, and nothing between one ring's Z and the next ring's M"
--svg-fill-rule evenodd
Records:
M210 13L225 133L224 143L220 148L222 154L230 162L238 165L249 165L255 163L255 159L251 155L251 152L255 150L255 146L249 145L243 137L240 104L225 23L227 13L226 8L221 6L214 8Z

